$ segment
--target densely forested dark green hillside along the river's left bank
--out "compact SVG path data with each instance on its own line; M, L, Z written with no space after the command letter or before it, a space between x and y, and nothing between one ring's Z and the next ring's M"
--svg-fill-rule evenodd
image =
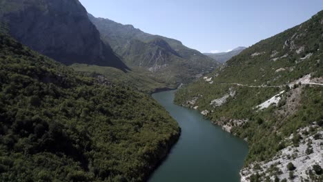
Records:
M148 95L0 34L0 181L144 181L179 132Z

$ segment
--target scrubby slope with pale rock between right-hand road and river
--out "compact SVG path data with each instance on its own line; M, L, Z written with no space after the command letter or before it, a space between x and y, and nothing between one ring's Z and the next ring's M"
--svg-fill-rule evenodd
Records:
M249 143L250 152L241 172L245 181L283 180L290 174L296 180L320 181L323 176L315 174L313 166L322 168L323 164L316 160L320 152L315 153L322 150L315 144L321 143L322 134L314 127L322 128L323 123L322 112L317 112L323 101L322 86L304 80L297 79L292 83L299 84L290 83L282 89L197 82L179 90L176 103L205 114ZM311 130L300 131L302 128ZM286 170L290 162L297 170Z

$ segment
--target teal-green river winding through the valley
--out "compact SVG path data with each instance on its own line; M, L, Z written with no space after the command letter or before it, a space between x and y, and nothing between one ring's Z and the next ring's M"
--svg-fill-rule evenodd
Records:
M149 182L239 181L246 142L213 125L196 110L173 103L175 90L153 94L182 128L182 135Z

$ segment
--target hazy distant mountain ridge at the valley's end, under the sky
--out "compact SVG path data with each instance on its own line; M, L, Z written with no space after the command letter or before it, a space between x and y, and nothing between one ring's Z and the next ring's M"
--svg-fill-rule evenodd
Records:
M150 70L161 82L187 83L219 65L175 39L148 34L131 25L95 18L91 14L88 17L97 26L102 39L110 43L128 65Z

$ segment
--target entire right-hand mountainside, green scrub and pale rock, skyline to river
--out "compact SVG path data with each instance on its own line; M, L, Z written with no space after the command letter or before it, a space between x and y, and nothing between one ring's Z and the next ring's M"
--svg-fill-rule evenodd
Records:
M248 142L242 181L322 181L322 43L323 11L177 92L178 104Z

